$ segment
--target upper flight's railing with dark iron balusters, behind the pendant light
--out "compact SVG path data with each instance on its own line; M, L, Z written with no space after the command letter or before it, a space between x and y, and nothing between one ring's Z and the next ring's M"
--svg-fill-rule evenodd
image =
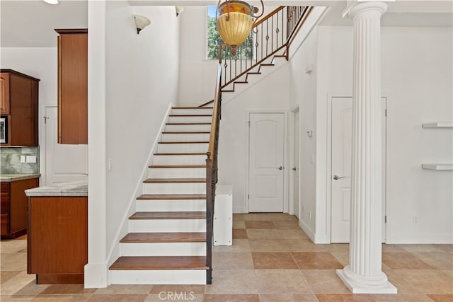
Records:
M253 25L246 42L237 47L235 57L231 56L229 47L222 50L221 55L225 58L222 88L279 51L289 59L289 46L310 11L309 6L280 6Z

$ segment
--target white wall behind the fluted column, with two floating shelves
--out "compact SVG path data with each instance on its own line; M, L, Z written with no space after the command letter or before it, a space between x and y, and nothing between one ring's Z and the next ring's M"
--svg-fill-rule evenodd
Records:
M318 33L316 204L328 209L328 97L352 95L352 28L319 27ZM452 54L452 28L382 28L387 243L453 242L452 171L421 169L453 160L452 129L421 126L453 120ZM316 219L316 233L328 234L328 217Z

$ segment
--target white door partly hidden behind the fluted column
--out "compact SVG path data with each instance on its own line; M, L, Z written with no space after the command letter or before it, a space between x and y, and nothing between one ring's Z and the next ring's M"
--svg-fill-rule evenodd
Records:
M386 99L382 98L383 184L385 184ZM332 98L331 242L350 242L352 98ZM385 189L383 189L385 192ZM382 194L385 197L385 194ZM385 213L385 203L383 209ZM384 220L384 216L383 216ZM384 231L384 227L383 227Z

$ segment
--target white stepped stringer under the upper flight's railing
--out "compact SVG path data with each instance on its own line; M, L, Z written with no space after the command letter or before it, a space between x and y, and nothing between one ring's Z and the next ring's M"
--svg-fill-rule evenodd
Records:
M272 65L270 64L260 64L260 66L256 67L256 70L260 72L260 74L248 74L247 75L247 82L246 83L231 83L229 86L234 86L234 91L229 91L228 88L222 89L222 105L233 100L234 98L238 97L244 91L248 91L248 89L253 88L257 83L263 81L264 79L268 78L271 74L273 74L278 69L282 68L283 66L288 64L288 61L284 57L273 57L271 61ZM253 72L253 71L251 71ZM245 76L244 76L245 77ZM238 82L241 82L238 79ZM245 85L243 85L245 84Z

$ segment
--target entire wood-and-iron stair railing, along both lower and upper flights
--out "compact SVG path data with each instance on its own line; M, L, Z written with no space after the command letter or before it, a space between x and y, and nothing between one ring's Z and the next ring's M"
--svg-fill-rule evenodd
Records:
M219 45L219 66L217 70L214 100L210 100L209 102L199 106L200 108L202 108L205 105L213 103L210 144L209 149L206 153L206 267L208 267L206 273L207 284L212 284L212 238L214 235L213 226L215 189L218 180L217 153L219 149L219 126L220 120L222 118L222 88L231 83L234 83L234 81L239 79L241 76L244 76L247 73L251 72L251 70L256 66L264 64L265 60L269 57L277 57L277 52L282 49L285 49L284 56L286 59L288 59L289 45L291 45L295 35L297 35L297 33L299 32L299 28L303 25L310 11L311 8L309 8L308 6L280 6L269 13L268 16L265 16L263 19L258 21L253 26L251 33L253 41L256 42L253 45L248 45L248 47L250 47L250 50L253 52L253 59L240 59L241 68L239 69L239 71L237 68L237 62L239 59L236 58L232 60L230 58L225 59L224 62L222 62L222 52L225 51L225 47L224 45ZM284 19L286 19L286 26L283 21ZM273 28L274 23L276 24L275 28ZM266 28L265 36L263 35L264 25ZM268 30L269 26L271 27L270 31ZM260 33L260 36L258 36L258 33ZM282 40L281 43L279 43L280 39ZM270 46L269 40L271 40ZM239 49L239 52L241 51L242 50ZM261 52L261 54L258 54L258 52ZM280 57L282 57L282 55L280 55ZM229 64L227 64L227 61L229 61ZM234 61L236 64L236 68L234 69L234 76L231 76L231 70L233 69L233 66L231 66L232 61ZM242 62L245 62L245 69L242 69ZM230 69L227 69L227 67L229 67ZM226 79L227 74L229 74L228 80ZM222 81L224 82L223 84Z

